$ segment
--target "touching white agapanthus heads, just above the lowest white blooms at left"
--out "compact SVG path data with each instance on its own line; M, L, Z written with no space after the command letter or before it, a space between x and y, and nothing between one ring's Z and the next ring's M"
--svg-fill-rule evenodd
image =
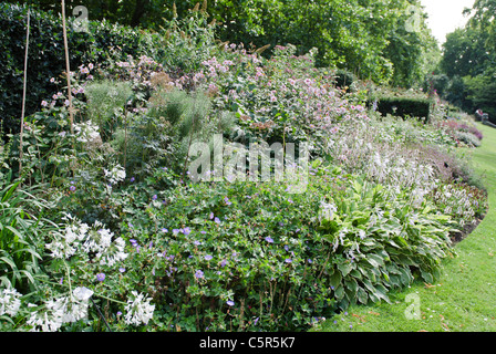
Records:
M53 241L45 247L53 258L69 259L78 252L94 253L95 260L102 266L112 267L126 259L125 242L120 237L113 239L114 233L103 228L100 221L93 227L66 215L64 219L69 225L60 232L53 233Z

